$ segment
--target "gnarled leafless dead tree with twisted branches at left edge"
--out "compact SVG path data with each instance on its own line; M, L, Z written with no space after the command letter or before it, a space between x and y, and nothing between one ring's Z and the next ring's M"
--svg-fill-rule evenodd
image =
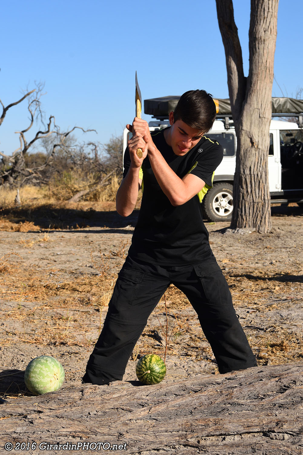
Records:
M47 167L50 164L55 154L55 150L58 147L60 147L61 149L66 149L67 147L70 147L66 143L66 138L73 131L75 131L76 129L80 129L83 132L95 131L84 130L84 128L82 128L81 126L74 126L72 129L68 131L61 132L60 127L55 123L55 116L52 115L49 117L48 122L45 125L43 121L43 113L41 111L41 96L43 95L42 94L43 88L44 84L42 83L37 84L36 89L27 91L27 93L25 93L25 95L22 98L20 98L20 100L15 101L14 103L11 103L6 107L0 100L3 109L2 115L0 117L0 125L4 121L7 111L11 107L20 104L25 99L27 99L28 101L28 112L30 114L29 125L21 131L16 131L16 134L19 134L20 147L18 147L12 153L11 156L0 152L1 161L3 164L2 169L0 169L0 178L2 180L2 183L8 182L10 185L13 185L16 182L18 182L18 185L22 186L27 182L32 183L41 182L42 180L41 172L43 169L45 169L45 167ZM28 131L30 131L30 129L33 127L35 120L40 120L44 128L37 131L35 136L30 141L28 141L25 137L25 134ZM56 136L56 141L53 144L52 151L45 158L45 162L36 167L27 167L25 164L25 156L28 153L29 149L31 147L34 147L37 141L40 141L41 139L47 138L51 135Z

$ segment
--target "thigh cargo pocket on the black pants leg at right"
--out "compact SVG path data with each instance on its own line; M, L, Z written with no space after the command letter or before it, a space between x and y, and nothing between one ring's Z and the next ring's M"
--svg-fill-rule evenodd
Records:
M226 279L217 262L204 262L194 265L208 303L212 305L232 305L232 298Z

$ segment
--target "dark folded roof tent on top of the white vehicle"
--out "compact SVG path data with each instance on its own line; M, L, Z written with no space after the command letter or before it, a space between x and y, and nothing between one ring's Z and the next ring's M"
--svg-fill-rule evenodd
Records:
M180 96L162 96L144 100L144 113L152 115L159 120L169 118L169 112L174 111ZM229 98L215 99L217 116L231 116ZM303 112L303 100L294 98L272 98L272 113L274 114L301 114Z

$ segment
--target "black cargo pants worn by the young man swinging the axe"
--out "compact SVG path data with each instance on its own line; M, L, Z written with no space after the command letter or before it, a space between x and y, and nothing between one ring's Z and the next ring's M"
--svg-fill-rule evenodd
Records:
M198 314L220 373L257 366L214 256L181 267L139 263L127 257L83 382L106 384L123 378L150 313L171 283L186 295Z

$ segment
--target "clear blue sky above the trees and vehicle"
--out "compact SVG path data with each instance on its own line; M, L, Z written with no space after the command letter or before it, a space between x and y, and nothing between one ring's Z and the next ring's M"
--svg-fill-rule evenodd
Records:
M247 75L250 1L233 0L233 7ZM302 0L279 2L273 96L294 97L303 86L302 12ZM62 131L97 130L77 133L80 141L105 143L122 134L134 118L136 70L143 100L197 88L228 98L214 0L10 0L0 13L1 101L6 106L35 81L45 82L46 118L54 115ZM26 103L11 108L0 151L13 152L15 131L26 126Z

